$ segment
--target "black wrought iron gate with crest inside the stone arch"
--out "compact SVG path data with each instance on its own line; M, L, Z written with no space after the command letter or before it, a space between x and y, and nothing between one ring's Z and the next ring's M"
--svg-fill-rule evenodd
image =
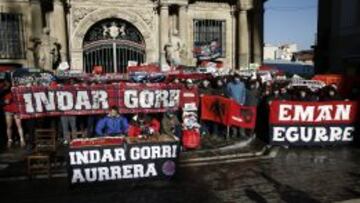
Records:
M128 61L145 61L145 43L140 32L121 19L96 23L85 35L84 70L100 65L106 73L125 73Z

